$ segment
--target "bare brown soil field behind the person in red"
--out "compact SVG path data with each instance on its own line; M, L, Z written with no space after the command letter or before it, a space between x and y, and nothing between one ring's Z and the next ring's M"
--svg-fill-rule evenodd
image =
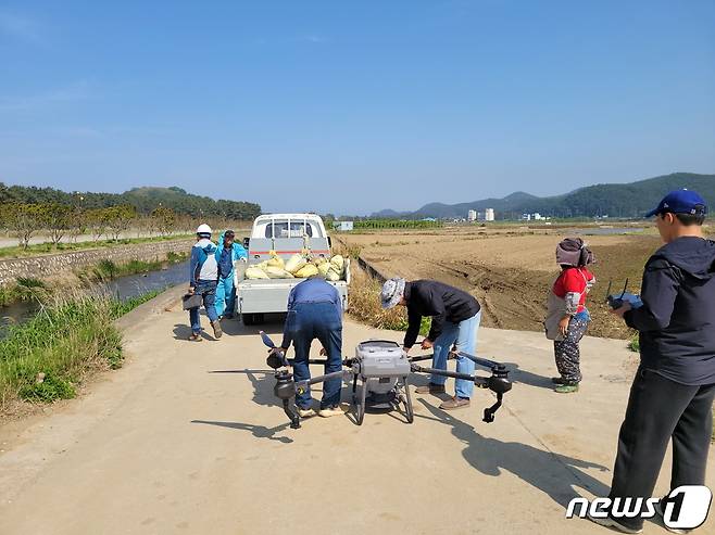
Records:
M472 293L482 306L482 324L502 329L540 331L547 294L559 275L554 262L562 238L581 235L597 257L592 271L597 284L587 306L593 321L589 334L629 339L632 332L609 314L605 294L629 278L629 290L640 290L648 257L662 243L651 230L622 235L584 235L589 229L530 230L506 228L451 228L435 231L402 231L340 235L353 254L360 255L387 277L436 279Z

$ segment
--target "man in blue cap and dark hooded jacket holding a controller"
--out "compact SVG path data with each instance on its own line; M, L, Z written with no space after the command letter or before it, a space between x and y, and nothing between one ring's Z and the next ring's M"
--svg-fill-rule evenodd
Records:
M618 435L612 499L652 497L670 440L670 488L705 482L715 398L715 242L702 232L706 213L698 193L677 190L648 214L665 245L645 264L642 306L614 310L640 333L640 367ZM641 518L592 520L624 533L643 525Z

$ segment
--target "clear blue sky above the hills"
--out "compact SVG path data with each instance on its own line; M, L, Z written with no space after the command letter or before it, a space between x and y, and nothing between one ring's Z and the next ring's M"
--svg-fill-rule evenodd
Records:
M0 2L0 181L366 214L715 173L715 2Z

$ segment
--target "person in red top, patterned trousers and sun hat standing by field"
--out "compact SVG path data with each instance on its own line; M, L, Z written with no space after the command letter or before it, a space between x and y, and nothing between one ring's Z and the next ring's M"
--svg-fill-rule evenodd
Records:
M581 381L578 343L588 329L591 317L586 308L586 294L595 277L586 266L594 260L593 253L580 238L566 238L556 247L561 273L549 293L547 337L554 341L554 357L561 377L553 378L554 391L578 392Z

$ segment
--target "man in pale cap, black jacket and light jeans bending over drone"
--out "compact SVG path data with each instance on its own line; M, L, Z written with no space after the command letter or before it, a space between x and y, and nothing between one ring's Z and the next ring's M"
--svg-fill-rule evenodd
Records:
M453 345L457 352L474 355L477 346L477 329L481 319L479 303L468 293L434 280L390 279L382 285L382 308L397 305L407 307L407 332L404 351L410 352L419 334L422 318L431 317L429 334L422 342L423 349L434 351L432 368L447 369L447 360ZM474 373L475 365L466 357L457 357L457 373ZM418 394L442 394L447 378L434 375L428 386L417 388ZM474 382L465 379L455 381L455 394L440 405L451 410L469 406Z

